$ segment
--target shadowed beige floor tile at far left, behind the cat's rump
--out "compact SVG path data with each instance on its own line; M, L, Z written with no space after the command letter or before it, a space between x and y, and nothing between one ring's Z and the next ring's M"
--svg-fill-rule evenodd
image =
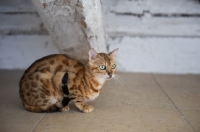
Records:
M0 73L0 131L31 131L45 113L31 113L23 108L18 86L22 71Z

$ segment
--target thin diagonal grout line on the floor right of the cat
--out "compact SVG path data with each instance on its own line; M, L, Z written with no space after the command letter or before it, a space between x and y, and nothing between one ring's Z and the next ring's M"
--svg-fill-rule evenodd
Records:
M181 114L182 118L185 119L185 121L188 123L188 125L192 128L192 130L194 132L196 132L194 130L194 128L192 127L192 125L189 123L189 121L187 120L187 118L183 115L183 113L181 113L180 109L176 106L176 104L174 103L174 101L169 97L169 95L166 93L166 91L163 89L163 87L160 85L160 83L157 81L156 77L154 74L151 74L152 78L154 79L154 81L156 82L156 84L161 88L161 90L164 92L164 94L167 96L167 98L172 102L172 104L174 105L174 107L179 111L179 113Z

